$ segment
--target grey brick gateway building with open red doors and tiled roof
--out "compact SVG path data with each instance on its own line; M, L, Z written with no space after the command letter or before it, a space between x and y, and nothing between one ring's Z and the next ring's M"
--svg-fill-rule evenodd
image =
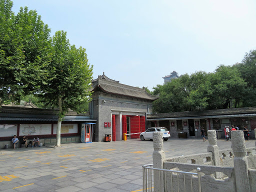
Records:
M92 81L91 91L89 113L97 121L93 141L103 141L105 134L111 134L112 141L122 140L123 133L144 131L146 115L152 112L152 101L158 98L145 89L112 80L104 73ZM139 134L130 138L139 138Z

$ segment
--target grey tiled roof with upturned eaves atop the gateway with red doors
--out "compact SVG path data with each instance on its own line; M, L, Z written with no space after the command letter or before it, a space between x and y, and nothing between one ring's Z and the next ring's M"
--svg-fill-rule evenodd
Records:
M156 100L159 98L158 95L150 95L148 92L146 92L145 89L129 86L126 84L121 84L118 82L113 82L105 79L97 79L93 84L91 91L95 91L97 89L100 89L103 92L111 93L111 94L117 94L117 95L123 95L123 96L130 96L135 98L143 98L147 100Z

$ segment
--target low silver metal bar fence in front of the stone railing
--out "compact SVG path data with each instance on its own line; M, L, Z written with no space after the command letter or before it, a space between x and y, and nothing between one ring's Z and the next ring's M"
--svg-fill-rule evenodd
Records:
M160 169L160 168L153 168L153 164L146 164L142 166L143 171L143 192L151 192L151 191L171 191L173 192L173 180L174 177L176 178L176 190L177 192L180 191L179 186L183 184L182 191L186 192L186 188L189 187L187 191L193 191L193 176L197 178L198 181L198 192L201 192L201 172L200 168L197 167L197 173L194 172L184 172L184 171L177 171L177 170L168 170L168 169ZM169 174L168 174L169 173ZM174 175L174 174L176 175ZM180 183L180 175L183 175L183 182ZM186 178L188 176L188 178ZM152 180L153 178L153 180ZM159 184L158 189L155 187L155 180L158 179ZM162 182L161 182L162 180ZM190 180L190 184L188 183ZM187 183L186 183L187 182ZM168 187L168 190L167 190Z

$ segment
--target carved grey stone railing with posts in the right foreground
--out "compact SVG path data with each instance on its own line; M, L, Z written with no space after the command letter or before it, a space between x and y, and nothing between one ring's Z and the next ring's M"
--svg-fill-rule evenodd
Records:
M156 133L153 135L153 166L155 168L174 169L186 172L196 172L196 167L200 167L202 191L209 190L210 188L214 192L254 191L256 188L256 147L245 148L243 131L234 131L231 140L232 148L218 150L216 131L208 130L207 133L209 141L207 153L177 156L167 159L162 150L163 142L161 133ZM157 176L162 177L162 180L167 179L166 175ZM166 178L164 178L165 176ZM158 190L158 186L163 183L158 182L155 184L154 191L160 191ZM177 186L179 185L177 184ZM165 191L169 191L169 187L167 186ZM196 189L196 186L194 187ZM175 177L172 188L175 188ZM182 190L181 188L179 189Z

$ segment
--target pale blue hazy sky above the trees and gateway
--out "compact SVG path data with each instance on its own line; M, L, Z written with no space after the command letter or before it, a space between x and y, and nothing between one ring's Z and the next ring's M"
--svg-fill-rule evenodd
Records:
M173 70L214 72L256 49L255 0L13 0L12 11L20 6L84 47L93 78L150 90Z

